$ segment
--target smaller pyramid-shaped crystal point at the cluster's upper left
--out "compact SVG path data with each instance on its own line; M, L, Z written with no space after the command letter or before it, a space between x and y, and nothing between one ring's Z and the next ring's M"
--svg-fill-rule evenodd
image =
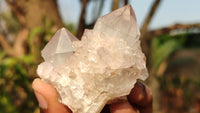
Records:
M42 57L46 62L53 64L65 63L66 58L74 52L73 41L78 41L78 39L68 30L65 28L58 30L42 50Z

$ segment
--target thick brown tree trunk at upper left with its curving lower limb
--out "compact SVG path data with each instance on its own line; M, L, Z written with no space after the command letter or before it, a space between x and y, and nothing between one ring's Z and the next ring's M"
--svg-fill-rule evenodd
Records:
M30 47L27 45L27 38L30 31L37 27L46 27L47 24L51 25L51 28L58 29L63 27L63 23L58 12L58 6L56 0L6 0L10 6L12 12L22 25L22 29L15 37L13 44L6 42L6 37L0 37L0 43L8 55L14 57L20 57L30 52ZM49 27L49 26L48 26ZM49 28L48 28L49 29ZM38 34L39 35L39 34ZM34 54L36 58L40 58L40 50L42 46L42 38L40 36L34 36L30 41L35 50ZM6 43L5 43L6 42ZM9 46L7 46L9 45Z

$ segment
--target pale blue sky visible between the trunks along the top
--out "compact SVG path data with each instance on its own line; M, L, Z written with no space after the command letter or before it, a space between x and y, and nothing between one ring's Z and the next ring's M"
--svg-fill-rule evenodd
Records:
M129 0L135 10L138 25L141 26L146 14L154 0ZM112 0L105 0L104 9L101 15L110 12ZM58 0L62 18L67 23L77 24L80 15L81 4L79 0ZM87 21L92 20L94 13L93 5L89 4ZM160 28L175 23L200 23L200 0L162 0L160 7L155 14L150 28Z

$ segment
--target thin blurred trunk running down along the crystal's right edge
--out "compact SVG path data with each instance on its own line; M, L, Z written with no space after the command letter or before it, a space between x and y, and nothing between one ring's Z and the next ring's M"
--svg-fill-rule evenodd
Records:
M148 39L144 38L145 34L147 33L148 31L148 27L149 27L149 24L154 16L154 14L156 13L157 9L158 9L158 6L160 5L160 2L162 0L155 0L154 3L152 4L152 7L141 27L141 45L142 45L142 49L143 49L143 52L146 54L147 58L150 58L150 44L148 43ZM150 60L147 59L147 65L149 67L149 86L153 92L153 111L154 113L158 113L159 109L160 109L160 106L159 106L159 83L157 81L157 75L156 75L156 72L151 69L152 67L149 65Z

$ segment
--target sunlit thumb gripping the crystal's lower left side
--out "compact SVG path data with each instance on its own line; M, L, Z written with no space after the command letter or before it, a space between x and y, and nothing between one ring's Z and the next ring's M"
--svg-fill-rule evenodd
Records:
M41 108L41 113L71 113L70 109L58 102L58 93L51 85L35 79L32 87Z

